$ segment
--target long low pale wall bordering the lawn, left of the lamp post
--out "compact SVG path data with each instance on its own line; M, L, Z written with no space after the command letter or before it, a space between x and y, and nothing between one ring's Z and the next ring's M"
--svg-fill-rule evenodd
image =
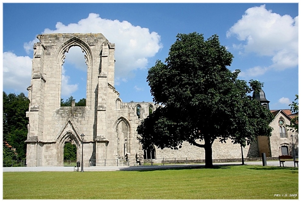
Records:
M73 172L74 166L51 166L51 167L5 167L3 172Z

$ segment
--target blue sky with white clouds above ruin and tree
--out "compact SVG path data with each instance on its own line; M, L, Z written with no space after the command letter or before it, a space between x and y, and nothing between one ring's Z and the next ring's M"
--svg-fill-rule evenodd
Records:
M217 34L234 55L239 79L264 83L270 109L286 109L298 94L298 3L4 3L3 90L30 85L38 34L102 33L115 49L115 88L123 102L152 101L146 81L165 61L178 33ZM66 55L62 98L86 97L84 56Z

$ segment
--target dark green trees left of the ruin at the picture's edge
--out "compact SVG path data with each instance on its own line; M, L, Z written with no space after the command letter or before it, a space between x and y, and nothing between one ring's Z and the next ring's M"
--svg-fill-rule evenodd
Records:
M27 124L26 112L29 107L29 99L20 93L6 94L3 91L3 141L7 141L16 148L17 158L26 158ZM4 153L3 153L4 154Z

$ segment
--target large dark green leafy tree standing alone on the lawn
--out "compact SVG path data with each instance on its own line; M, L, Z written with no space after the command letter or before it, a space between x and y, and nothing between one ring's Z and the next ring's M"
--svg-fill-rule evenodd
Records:
M263 84L238 80L240 70L227 69L232 58L217 35L207 41L202 34L177 35L165 63L148 71L153 101L164 107L137 128L144 149L178 149L188 141L205 149L205 167L211 168L215 140L245 147L258 135L271 135L272 114L251 96Z

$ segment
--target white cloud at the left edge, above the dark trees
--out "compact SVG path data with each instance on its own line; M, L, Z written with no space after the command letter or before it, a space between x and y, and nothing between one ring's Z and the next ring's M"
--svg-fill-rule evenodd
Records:
M32 58L3 53L3 89L26 92L30 86Z

